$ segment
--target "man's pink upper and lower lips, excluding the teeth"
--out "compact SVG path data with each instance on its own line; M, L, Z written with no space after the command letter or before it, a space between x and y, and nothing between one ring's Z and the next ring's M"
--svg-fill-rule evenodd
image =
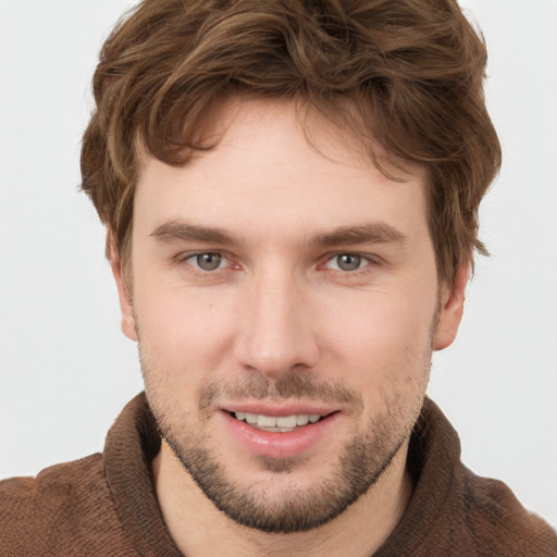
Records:
M263 408L262 405L238 405L238 409L222 410L222 417L226 428L232 433L238 444L253 456L263 456L268 458L293 458L307 454L315 447L323 436L337 422L339 412L322 412L317 407L311 411L307 405L296 405L281 408ZM242 408L242 409L240 409ZM300 410L301 408L301 410ZM313 411L315 410L315 411ZM308 423L289 432L269 432L258 430L244 421L236 420L231 412L244 411L264 416L292 416L295 413L319 413L326 414L321 421ZM286 412L286 413L285 413Z

